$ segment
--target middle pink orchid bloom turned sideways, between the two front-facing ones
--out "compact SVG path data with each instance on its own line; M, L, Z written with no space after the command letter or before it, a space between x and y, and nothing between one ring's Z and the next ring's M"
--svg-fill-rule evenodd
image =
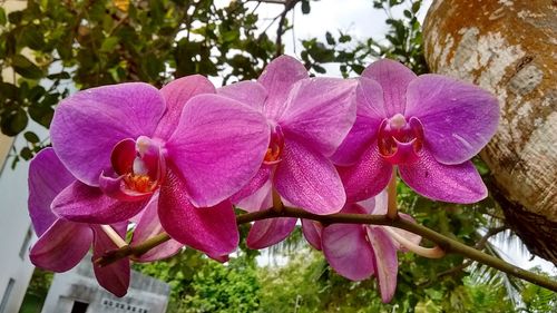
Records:
M304 66L282 56L257 81L217 91L261 111L271 128L270 145L257 175L233 203L248 212L268 208L275 189L287 205L315 214L339 212L345 203L342 182L329 159L355 120L355 81L309 78ZM295 218L255 222L247 245L261 248L285 238Z

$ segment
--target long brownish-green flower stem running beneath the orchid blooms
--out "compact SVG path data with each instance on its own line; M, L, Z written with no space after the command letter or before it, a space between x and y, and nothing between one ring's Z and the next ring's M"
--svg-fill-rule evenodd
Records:
M488 255L478 251L473 247L469 247L456 239L449 238L440 233L437 233L426 226L412 223L403 218L390 218L387 215L368 215L368 214L346 214L336 213L331 215L316 215L305 212L300 208L284 206L281 212L276 212L273 208L258 211L254 213L246 213L236 216L237 224L246 224L254 221L274 218L274 217L297 217L321 222L325 225L329 224L369 224L369 225L384 225L401 228L413 234L420 235L436 244L438 244L447 253L457 253L463 255L465 257L479 262L481 264L491 266L505 273L508 273L518 278L528 281L532 284L546 287L550 291L557 292L557 282L551 278L544 277L541 275L528 272L520 267L517 267L504 260L497 258L495 256ZM498 228L496 228L498 231ZM489 232L488 232L489 233ZM108 265L119 258L127 256L138 257L150 248L168 241L170 237L167 234L159 234L153 238L149 238L136 246L125 246L123 248L108 252L102 257L97 260L95 263L98 265ZM478 244L480 244L480 241Z

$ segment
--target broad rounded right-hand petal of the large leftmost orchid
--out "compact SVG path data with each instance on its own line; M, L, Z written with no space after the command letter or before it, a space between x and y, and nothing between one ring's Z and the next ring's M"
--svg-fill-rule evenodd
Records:
M265 118L241 102L199 95L184 108L168 140L168 160L186 178L192 204L213 206L238 192L257 173L268 147Z

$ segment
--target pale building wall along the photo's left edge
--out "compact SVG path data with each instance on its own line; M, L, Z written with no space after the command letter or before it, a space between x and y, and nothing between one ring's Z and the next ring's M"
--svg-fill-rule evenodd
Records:
M1 3L7 13L21 10L26 4L14 0ZM4 70L2 78L11 81L11 69ZM29 246L35 241L27 213L29 164L21 162L16 170L10 168L7 158L12 144L13 138L0 135L0 313L19 311L35 268L29 261Z

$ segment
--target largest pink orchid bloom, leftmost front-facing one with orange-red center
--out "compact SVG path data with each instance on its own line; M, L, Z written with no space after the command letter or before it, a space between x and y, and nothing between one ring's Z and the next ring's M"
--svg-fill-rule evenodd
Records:
M264 117L215 94L202 76L158 90L130 82L79 91L62 100L52 147L77 178L52 202L74 222L113 224L158 195L163 228L209 255L238 243L227 200L257 173L268 146Z

